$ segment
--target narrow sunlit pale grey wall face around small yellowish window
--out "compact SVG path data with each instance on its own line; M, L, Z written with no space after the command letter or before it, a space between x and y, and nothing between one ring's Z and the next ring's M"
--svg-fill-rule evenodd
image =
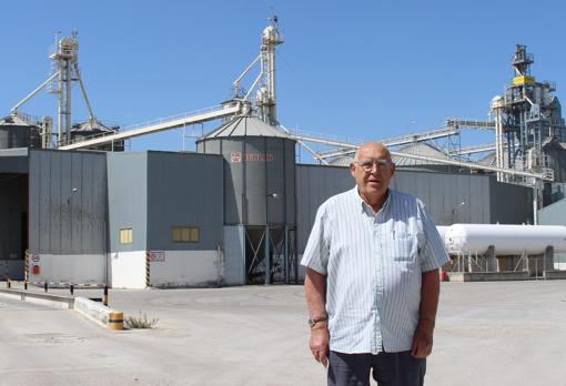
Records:
M145 251L148 153L107 153L107 158L110 251ZM122 228L132 228L132 243L120 244Z

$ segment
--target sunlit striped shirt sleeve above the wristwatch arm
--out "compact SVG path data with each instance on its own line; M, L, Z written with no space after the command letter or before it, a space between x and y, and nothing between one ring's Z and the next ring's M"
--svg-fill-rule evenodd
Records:
M326 275L330 253L330 237L325 204L319 207L309 242L301 260L301 265Z

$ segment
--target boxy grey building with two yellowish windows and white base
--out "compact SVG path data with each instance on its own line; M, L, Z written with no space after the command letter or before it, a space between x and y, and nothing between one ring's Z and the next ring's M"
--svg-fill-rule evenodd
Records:
M218 285L222 169L219 155L108 153L109 282L118 287Z

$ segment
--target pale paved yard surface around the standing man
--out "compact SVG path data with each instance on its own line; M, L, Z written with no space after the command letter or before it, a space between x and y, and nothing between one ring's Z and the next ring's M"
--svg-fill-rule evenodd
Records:
M301 286L111 291L110 305L156 328L0 297L0 385L325 384ZM426 385L566 385L565 321L566 281L443 283Z

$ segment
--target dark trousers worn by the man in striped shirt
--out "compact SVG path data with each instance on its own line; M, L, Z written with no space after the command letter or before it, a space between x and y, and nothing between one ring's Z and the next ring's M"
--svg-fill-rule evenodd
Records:
M426 359L415 359L411 352L330 352L329 360L329 386L368 386L371 370L378 386L423 386L426 372Z

